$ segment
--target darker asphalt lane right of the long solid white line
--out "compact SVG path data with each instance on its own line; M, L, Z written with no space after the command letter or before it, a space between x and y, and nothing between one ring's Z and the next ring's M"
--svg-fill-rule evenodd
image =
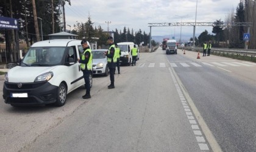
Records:
M222 150L256 151L255 63L181 53L167 58Z

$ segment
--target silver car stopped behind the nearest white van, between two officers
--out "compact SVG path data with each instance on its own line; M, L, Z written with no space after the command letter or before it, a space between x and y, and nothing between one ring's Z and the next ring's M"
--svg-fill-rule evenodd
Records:
M107 57L104 52L107 49L95 49L91 50L93 54L93 74L94 75L104 75L107 76L109 74L109 69L107 66Z

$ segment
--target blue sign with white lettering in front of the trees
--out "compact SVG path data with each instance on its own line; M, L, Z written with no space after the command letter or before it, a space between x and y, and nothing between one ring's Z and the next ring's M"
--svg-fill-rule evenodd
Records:
M13 29L18 30L18 19L16 18L6 18L0 16L0 29Z

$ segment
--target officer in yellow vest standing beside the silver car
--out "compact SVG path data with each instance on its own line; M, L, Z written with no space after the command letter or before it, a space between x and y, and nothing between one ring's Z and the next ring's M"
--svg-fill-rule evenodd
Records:
M109 68L109 73L110 73L110 85L108 86L108 89L113 89L115 88L115 69L116 69L116 54L115 54L115 44L113 43L113 37L108 36L107 38L107 43L109 44L109 49L107 52L104 54L107 56L107 64Z

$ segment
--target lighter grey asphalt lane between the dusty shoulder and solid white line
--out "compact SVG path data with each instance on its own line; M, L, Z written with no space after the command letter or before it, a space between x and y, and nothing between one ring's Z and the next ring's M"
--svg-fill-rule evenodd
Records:
M165 55L141 54L115 78L21 151L211 151Z

